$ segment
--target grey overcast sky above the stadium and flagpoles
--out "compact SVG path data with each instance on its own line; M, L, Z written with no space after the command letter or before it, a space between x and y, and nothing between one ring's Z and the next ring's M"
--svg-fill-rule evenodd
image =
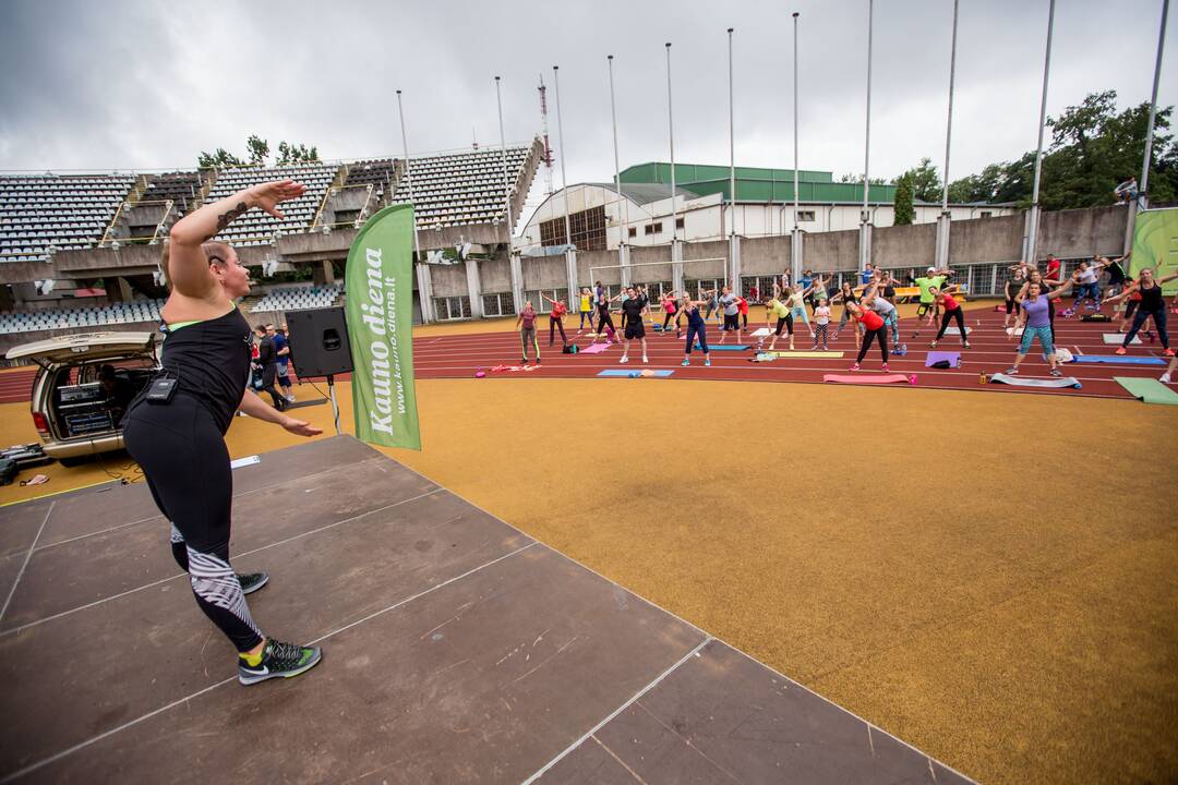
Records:
M1048 114L1090 91L1149 100L1162 0L1059 0ZM790 13L801 13L801 167L862 172L867 0L653 2L66 2L0 0L0 169L192 167L244 155L250 133L325 159L509 142L541 127L537 81L561 66L570 182L666 160L673 42L675 153L728 162L726 28L734 27L736 162L793 164ZM952 0L876 0L872 177L941 166ZM1047 0L962 0L951 178L1033 149ZM1159 102L1178 100L1171 20ZM550 138L557 146L549 91ZM561 185L560 168L556 185ZM542 182L542 175L537 178Z

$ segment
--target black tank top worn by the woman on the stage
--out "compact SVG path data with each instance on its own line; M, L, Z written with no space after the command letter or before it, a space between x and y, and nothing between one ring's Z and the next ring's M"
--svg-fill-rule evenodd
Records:
M233 308L224 317L165 332L160 362L179 380L177 394L200 401L225 433L250 380L250 324Z

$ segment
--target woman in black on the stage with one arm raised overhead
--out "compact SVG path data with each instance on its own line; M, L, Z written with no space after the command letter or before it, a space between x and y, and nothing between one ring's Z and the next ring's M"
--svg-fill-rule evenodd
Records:
M176 222L161 264L172 291L160 313L166 335L160 371L123 420L127 452L172 524L172 556L188 573L197 605L237 648L241 684L298 676L322 652L266 637L250 614L245 596L269 576L238 574L230 566L233 473L225 432L237 410L296 435L322 431L271 408L246 387L250 325L234 300L249 293L250 278L233 248L211 240L252 207L283 218L278 205L303 191L291 180L266 182Z

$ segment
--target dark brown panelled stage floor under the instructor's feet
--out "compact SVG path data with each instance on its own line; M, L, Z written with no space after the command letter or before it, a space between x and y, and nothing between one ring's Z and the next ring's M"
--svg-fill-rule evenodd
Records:
M5 507L0 783L971 781L351 437L233 474L323 661L240 686L143 484Z

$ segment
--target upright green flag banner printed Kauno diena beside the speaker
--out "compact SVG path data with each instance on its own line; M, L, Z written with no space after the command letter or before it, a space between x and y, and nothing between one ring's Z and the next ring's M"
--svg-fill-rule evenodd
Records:
M356 438L421 450L413 386L412 251L412 205L385 207L352 241L344 291L356 368Z

